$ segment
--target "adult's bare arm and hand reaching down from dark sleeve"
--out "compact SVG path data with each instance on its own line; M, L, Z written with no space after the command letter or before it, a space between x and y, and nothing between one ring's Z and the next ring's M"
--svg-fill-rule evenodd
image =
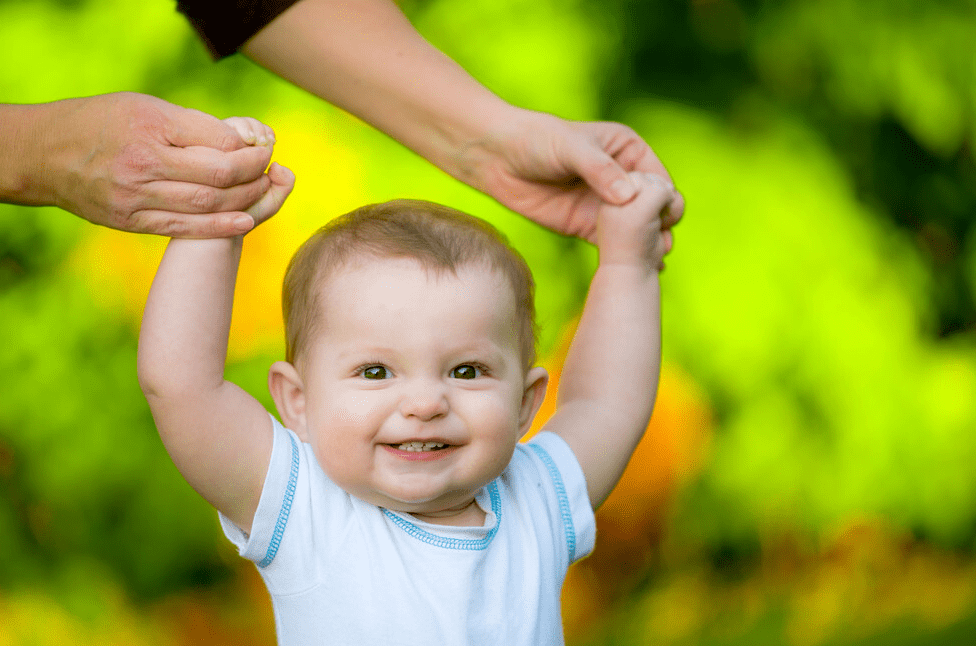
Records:
M632 129L506 103L424 40L390 0L302 0L242 51L560 233L595 242L597 206L636 192L628 171L670 182ZM682 210L679 197L665 226Z

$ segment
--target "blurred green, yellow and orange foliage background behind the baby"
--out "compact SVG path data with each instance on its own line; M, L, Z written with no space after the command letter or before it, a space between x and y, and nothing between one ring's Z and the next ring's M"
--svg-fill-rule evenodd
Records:
M132 90L274 127L298 185L247 238L230 378L271 405L288 257L393 197L508 233L558 377L592 248L243 57L214 64L173 5L0 1L0 101ZM403 6L509 101L633 126L687 198L658 408L570 572L569 644L976 643L976 4ZM164 244L0 205L0 646L273 643L136 383Z

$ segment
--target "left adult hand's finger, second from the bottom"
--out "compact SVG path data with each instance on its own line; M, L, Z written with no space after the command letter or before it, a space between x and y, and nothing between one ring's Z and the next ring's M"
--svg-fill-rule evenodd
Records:
M243 211L261 199L270 187L271 181L264 174L229 188L159 180L143 185L145 197L141 208L176 213Z

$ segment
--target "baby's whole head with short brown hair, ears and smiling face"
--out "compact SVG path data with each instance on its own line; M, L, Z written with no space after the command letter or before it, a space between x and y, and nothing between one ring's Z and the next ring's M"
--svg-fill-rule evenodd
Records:
M283 301L272 395L336 484L436 517L504 470L547 376L531 273L494 228L429 202L365 206L302 245Z

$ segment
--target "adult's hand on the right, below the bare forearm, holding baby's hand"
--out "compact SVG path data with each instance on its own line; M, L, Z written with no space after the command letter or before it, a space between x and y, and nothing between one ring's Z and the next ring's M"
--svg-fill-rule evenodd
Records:
M566 235L596 242L597 209L626 204L637 194L628 176L670 175L631 128L612 122L573 122L525 112L461 153L461 178L513 211ZM662 218L666 231L684 213L680 193ZM670 236L668 236L670 237Z

